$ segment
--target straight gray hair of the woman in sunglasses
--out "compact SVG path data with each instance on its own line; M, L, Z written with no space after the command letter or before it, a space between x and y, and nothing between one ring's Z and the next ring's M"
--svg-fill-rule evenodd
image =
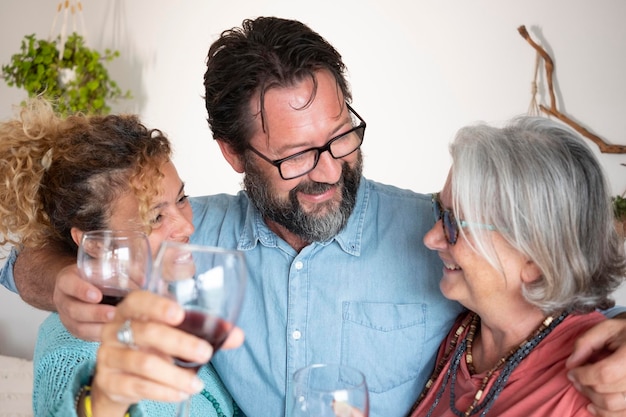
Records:
M530 303L545 313L613 305L626 274L624 245L602 167L578 134L518 117L504 128L462 128L450 153L452 209L470 222L474 249L501 269L484 227L491 224L541 270L524 286Z

